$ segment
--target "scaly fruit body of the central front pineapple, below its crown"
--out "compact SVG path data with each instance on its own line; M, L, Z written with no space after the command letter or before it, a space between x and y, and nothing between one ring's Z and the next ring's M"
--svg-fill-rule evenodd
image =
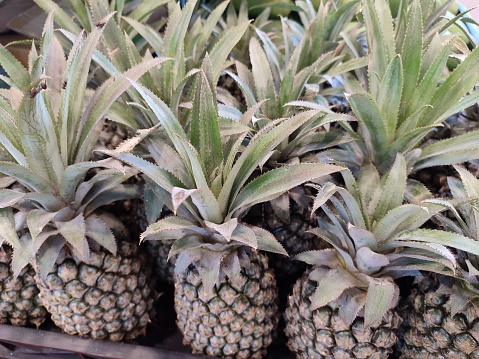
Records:
M175 310L183 343L195 354L218 358L262 358L278 325L276 280L268 258L252 252L246 282L232 285L220 277L213 297L205 298L198 270L175 274Z

